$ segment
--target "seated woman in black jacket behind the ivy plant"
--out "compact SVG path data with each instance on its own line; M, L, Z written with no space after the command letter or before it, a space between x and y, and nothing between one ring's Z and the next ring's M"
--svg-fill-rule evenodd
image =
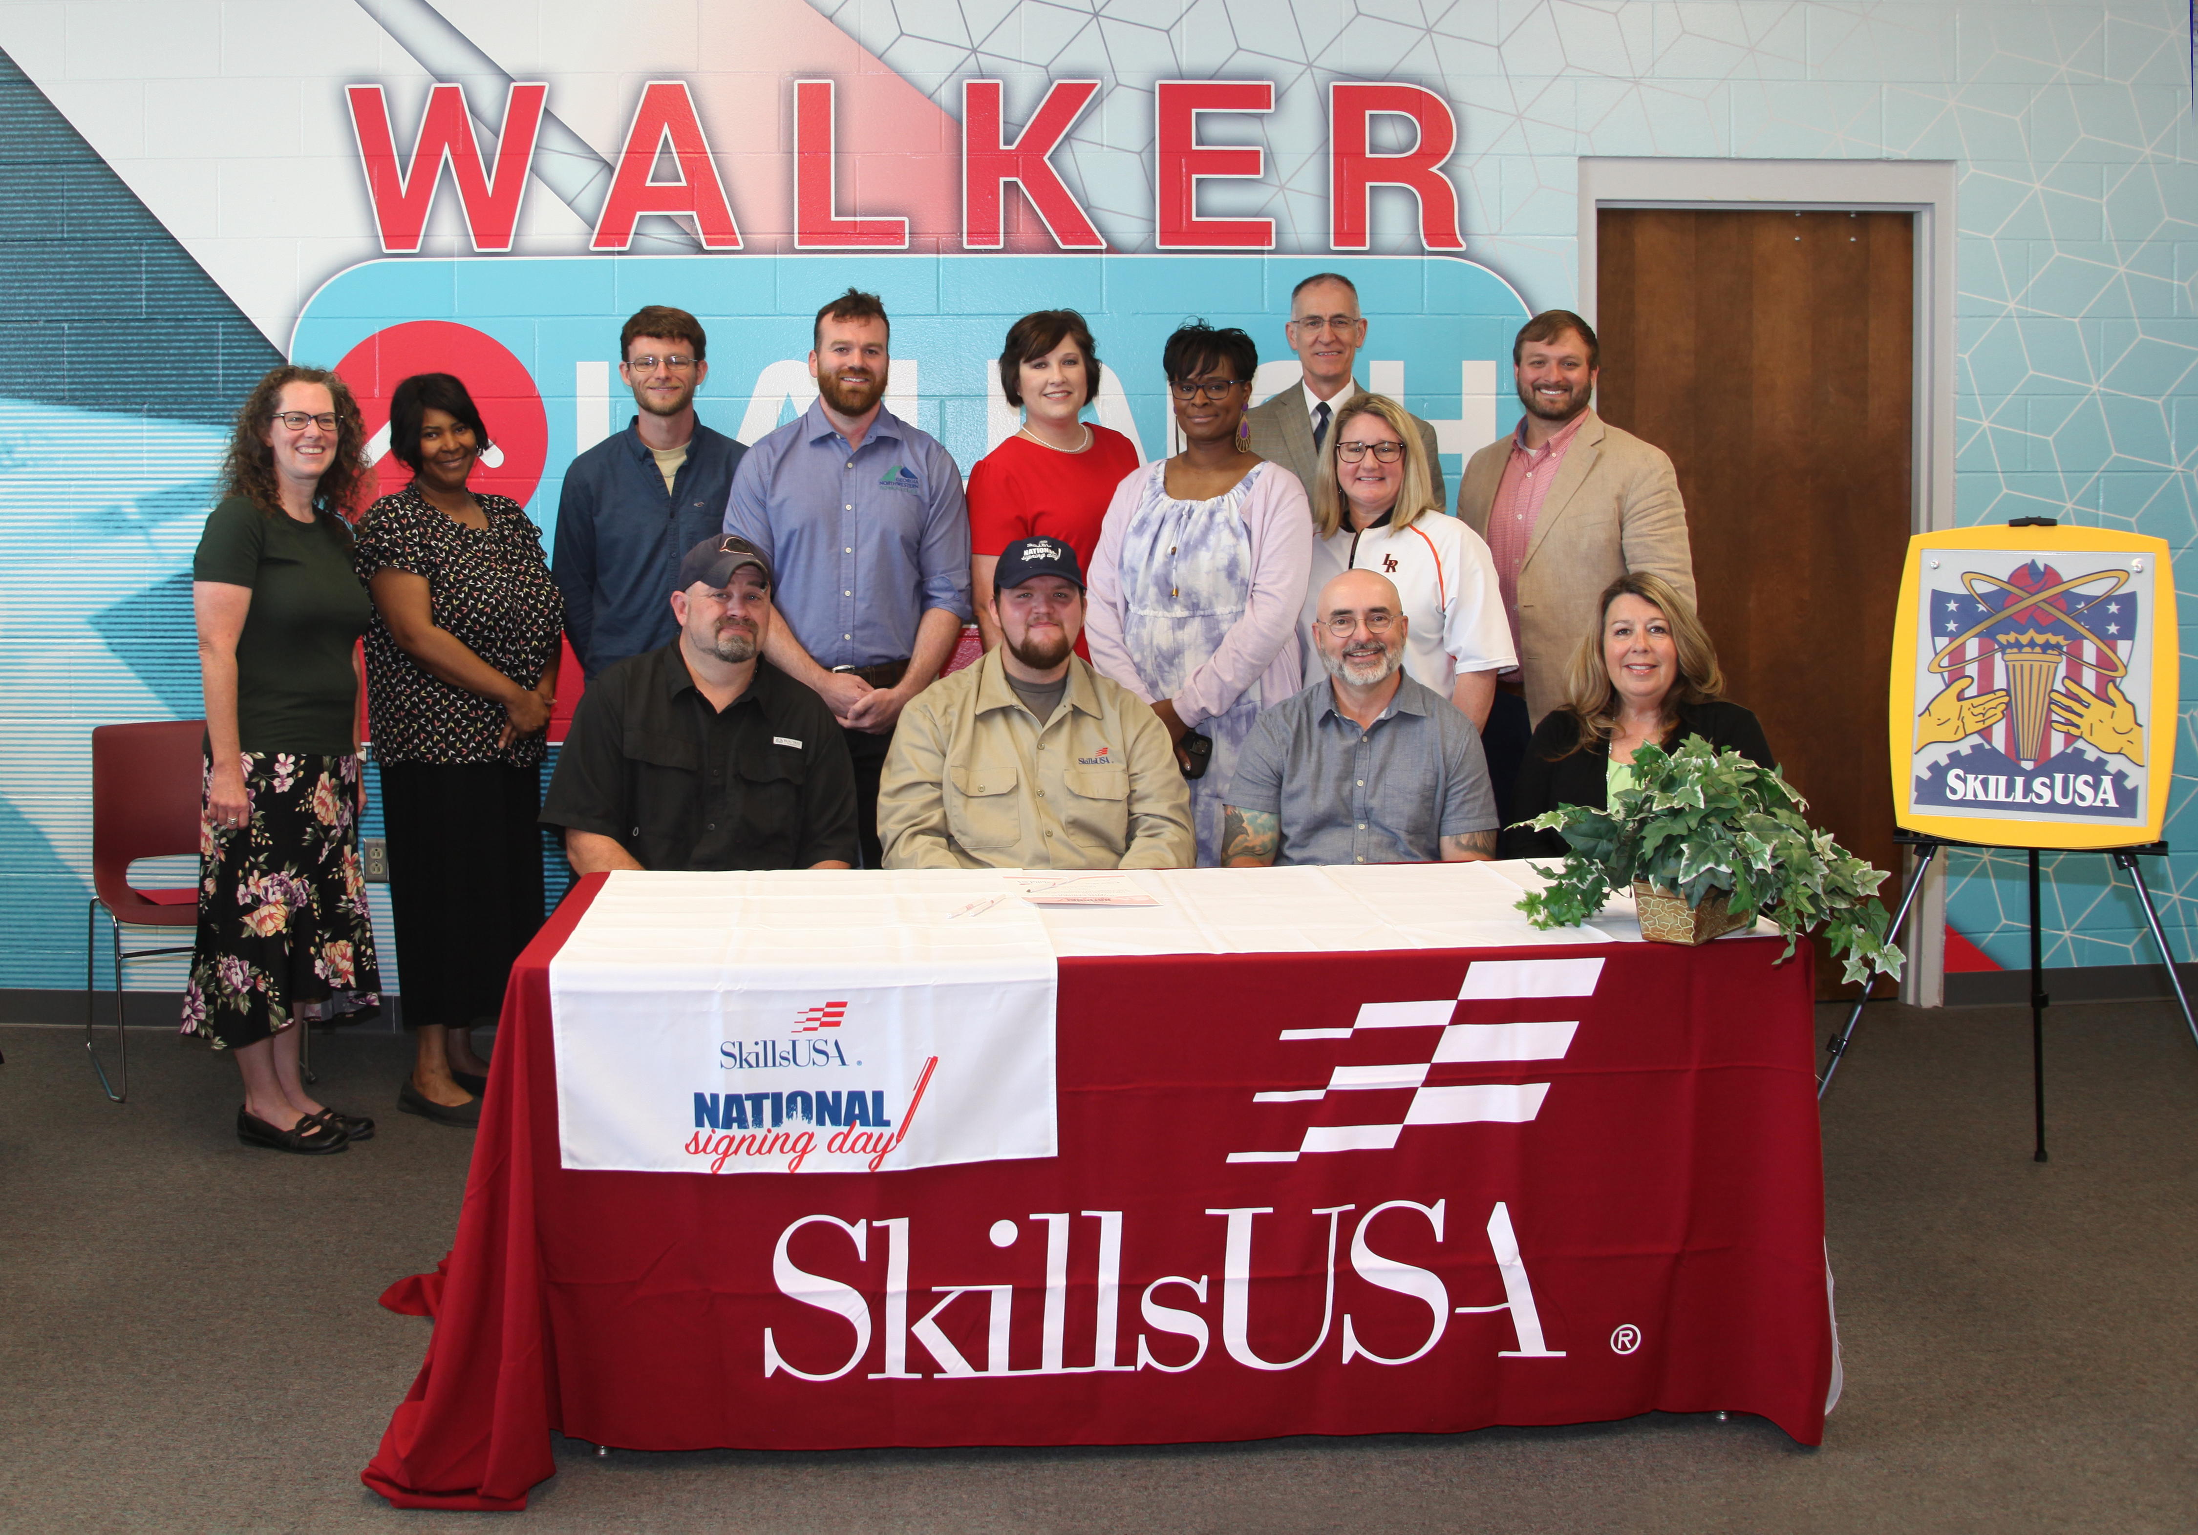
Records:
M1695 606L1648 571L1602 591L1602 624L1580 637L1565 668L1565 703L1534 729L1519 766L1512 815L1528 821L1561 804L1607 806L1633 773L1633 749L1675 751L1701 736L1717 751L1778 766L1756 716L1725 703L1717 648ZM1503 830L1506 859L1563 859L1565 839L1528 826Z

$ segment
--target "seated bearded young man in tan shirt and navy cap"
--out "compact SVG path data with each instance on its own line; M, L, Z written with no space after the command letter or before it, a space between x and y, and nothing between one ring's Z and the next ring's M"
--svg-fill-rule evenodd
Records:
M901 712L877 793L886 867L1189 867L1191 793L1167 727L1075 652L1077 551L1018 538L991 586L1002 643Z

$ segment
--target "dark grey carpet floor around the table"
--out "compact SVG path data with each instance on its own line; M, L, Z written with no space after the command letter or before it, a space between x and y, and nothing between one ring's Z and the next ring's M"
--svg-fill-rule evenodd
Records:
M1831 1012L1820 1012L1829 1026ZM1822 1030L1820 1030L1822 1032ZM235 1069L0 1028L0 1528L13 1531L2194 1531L2198 1050L2158 1004L1879 1004L1827 1105L1846 1397L1769 1423L1141 1449L633 1454L560 1441L523 1515L358 1484L429 1322L376 1307L451 1241L470 1135L396 1113L407 1041L317 1041L380 1120L246 1151Z

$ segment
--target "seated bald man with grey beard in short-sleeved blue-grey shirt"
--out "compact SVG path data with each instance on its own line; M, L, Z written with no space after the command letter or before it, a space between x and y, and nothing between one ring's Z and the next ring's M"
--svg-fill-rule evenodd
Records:
M1497 802L1473 720L1402 672L1409 619L1376 571L1321 589L1312 643L1328 676L1253 725L1222 806L1222 861L1490 859Z

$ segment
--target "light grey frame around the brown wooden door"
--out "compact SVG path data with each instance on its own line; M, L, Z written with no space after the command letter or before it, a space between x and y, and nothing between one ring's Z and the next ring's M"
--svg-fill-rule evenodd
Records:
M1580 156L1580 314L1596 323L1602 209L1761 209L1914 215L1914 424L1908 525L1954 527L1954 163L1684 160ZM1888 769L1890 771L1890 769ZM1912 854L1903 861L1912 865ZM1906 883L1901 870L1899 883ZM1888 881L1892 885L1895 881ZM1881 892L1886 905L1899 889ZM1901 1001L1945 1006L1945 859L1934 859L1901 949Z

